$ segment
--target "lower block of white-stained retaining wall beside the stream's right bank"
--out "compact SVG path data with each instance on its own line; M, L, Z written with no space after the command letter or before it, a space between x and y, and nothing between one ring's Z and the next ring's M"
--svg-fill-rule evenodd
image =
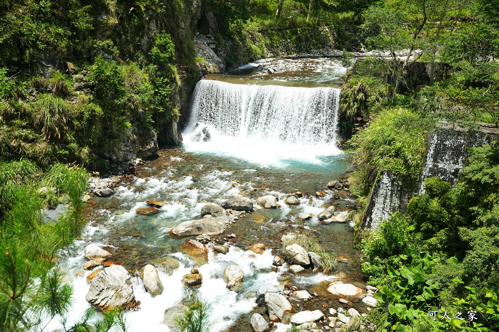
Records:
M407 179L393 175L391 171L382 170L367 198L367 206L360 218L360 228L378 229L381 220L388 220L391 213L399 210L405 213L409 203L408 182Z

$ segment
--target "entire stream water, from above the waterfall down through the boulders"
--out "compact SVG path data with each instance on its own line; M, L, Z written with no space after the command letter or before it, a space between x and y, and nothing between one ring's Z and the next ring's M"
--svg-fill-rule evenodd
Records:
M260 62L270 61L268 59ZM136 310L125 313L128 331L170 331L165 310L186 303L193 295L209 304L210 331L251 331L250 316L262 313L255 292L263 283L293 285L316 293L306 302L292 302L293 312L337 308L339 296L326 293L331 281L341 280L365 288L360 270L362 253L352 247L353 221L319 221L317 215L334 205L336 212L351 211L355 201L348 190L327 187L332 180L344 180L349 168L346 154L337 147L337 119L344 75L337 59L278 59L275 66L290 70L275 74L258 71L258 62L228 74L212 74L201 80L192 96L190 120L183 131L184 144L160 149L157 155L138 167L140 176L130 176L107 198L93 197L89 224L81 239L60 253L58 266L74 287L74 302L67 315L71 324L90 307L85 300L89 290L83 270L85 246L96 244L113 253L113 262L132 275ZM305 67L303 65L306 65ZM296 66L295 66L296 65ZM295 66L295 67L293 67ZM301 66L301 67L300 67ZM283 203L289 193L301 192L300 204ZM323 192L324 196L316 195ZM221 235L212 239L230 246L227 254L208 245L208 263L196 260L180 249L186 239L170 229L182 221L201 218L206 203L221 204L231 197L252 200L264 195L278 198L280 208L262 209L239 215ZM166 202L160 213L143 216L147 200ZM304 221L326 252L338 258L330 274L305 271L297 275L288 264L272 265L280 237L295 229L300 214L314 217ZM234 233L236 237L230 234ZM246 248L255 243L267 247L263 254ZM178 268L164 268L165 259L175 258ZM140 269L145 264L158 267L165 287L152 298L145 290ZM227 266L239 265L244 273L242 290L229 291L222 279ZM182 277L198 268L203 275L199 287L185 287ZM365 313L358 299L350 307ZM261 308L261 307L260 307ZM346 307L348 308L348 307ZM60 327L50 322L48 328ZM284 332L289 325L274 324L272 331Z

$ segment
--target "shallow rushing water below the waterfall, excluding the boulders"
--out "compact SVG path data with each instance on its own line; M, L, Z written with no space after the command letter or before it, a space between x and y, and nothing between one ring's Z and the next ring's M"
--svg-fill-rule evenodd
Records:
M86 263L84 248L90 243L112 251L112 260L124 265L132 274L135 297L141 305L139 310L125 315L129 331L135 332L143 331L144 327L148 331L169 331L162 324L165 310L185 303L194 294L212 308L210 331L250 331L249 317L256 307L254 292L262 283L287 283L317 292L319 296L306 303L293 303L293 311L321 309L326 312L323 305L337 307L337 297L325 293L331 280L342 278L358 283L364 278L360 272L361 253L351 245L353 225L322 224L316 217L306 221L305 227L313 231L326 251L343 255L349 263L338 263L337 270L330 275L305 273L294 276L288 272L287 264L279 268L272 266L272 249L281 248L280 237L295 229L299 214L317 216L329 205L335 205L339 213L350 211L354 206L348 192L330 190L324 185L344 178L349 167L347 156L334 142L329 146L316 144L314 139L319 135L309 136L310 144L302 142L302 146L296 141L286 143L274 139L269 144L268 140L245 138L244 149L217 148L217 144L235 147L243 143L235 137L222 137L223 134L216 138L216 132L212 132L213 141L160 150L156 158L151 158L139 169L140 177L123 180L109 198L94 198L88 212L89 224L81 239L60 253L59 267L66 272L66 280L75 289L68 323L78 320L90 306L85 295L89 289L86 276L91 271L82 269ZM324 191L325 196L316 197L318 190ZM304 194L299 206L290 207L282 202L287 193L296 191ZM200 218L201 208L206 203L220 204L234 196L256 199L263 195L275 195L281 208L260 209L255 204L253 214L239 216L222 235L213 236L230 245L229 253L215 253L210 244L208 264L199 263L181 252L180 244L186 238L169 235L169 230L181 221ZM169 204L162 207L159 214L137 215L135 210L147 207L147 200L168 201ZM238 238L227 238L230 233L237 234ZM258 242L267 246L262 255L246 251L247 246ZM160 271L165 290L151 298L138 270L168 256L177 258L181 266L171 275ZM232 263L245 272L244 287L238 293L229 291L222 279L224 270ZM182 276L192 267L199 268L203 275L201 287L182 285ZM47 329L59 326L54 320ZM284 332L288 327L276 326L273 331Z

